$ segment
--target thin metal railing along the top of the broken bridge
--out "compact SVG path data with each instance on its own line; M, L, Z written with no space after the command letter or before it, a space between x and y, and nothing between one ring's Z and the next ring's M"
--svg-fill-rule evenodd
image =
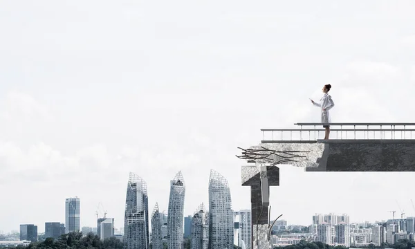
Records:
M296 123L297 129L261 129L263 142L311 142L324 138L323 123ZM415 123L330 123L330 139L412 140Z

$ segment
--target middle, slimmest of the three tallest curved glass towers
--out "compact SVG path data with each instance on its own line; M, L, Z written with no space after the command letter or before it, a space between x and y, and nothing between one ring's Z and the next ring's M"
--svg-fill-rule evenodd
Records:
M183 247L183 212L186 185L181 172L170 181L169 216L167 216L167 248Z

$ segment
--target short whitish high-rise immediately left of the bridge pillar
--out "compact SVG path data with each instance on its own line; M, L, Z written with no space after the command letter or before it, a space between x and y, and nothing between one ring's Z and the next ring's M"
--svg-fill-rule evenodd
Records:
M278 221L276 221L277 223ZM234 212L234 244L242 247L244 243L247 249L252 244L252 220L250 210L241 210ZM286 225L286 223L285 223Z

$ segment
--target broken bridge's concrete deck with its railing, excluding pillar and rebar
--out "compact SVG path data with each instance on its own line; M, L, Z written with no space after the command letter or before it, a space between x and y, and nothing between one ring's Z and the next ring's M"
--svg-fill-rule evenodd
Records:
M322 125L261 129L257 147L310 151L307 160L293 163L307 172L415 172L415 123L331 123L330 140L320 139Z

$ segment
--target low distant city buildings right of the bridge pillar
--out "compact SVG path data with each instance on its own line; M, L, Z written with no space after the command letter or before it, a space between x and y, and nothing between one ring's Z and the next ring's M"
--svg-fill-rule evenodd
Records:
M288 246L307 241L320 241L331 246L360 247L381 246L382 243L394 244L400 239L413 240L415 218L389 219L375 223L350 223L347 214L315 214L313 224L307 232L273 235L274 246ZM286 221L277 221L273 230L291 230Z

